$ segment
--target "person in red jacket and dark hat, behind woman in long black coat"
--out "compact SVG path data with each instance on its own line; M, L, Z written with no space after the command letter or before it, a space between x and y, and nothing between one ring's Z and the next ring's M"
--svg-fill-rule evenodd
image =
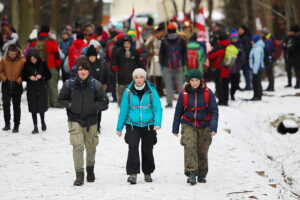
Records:
M45 61L52 74L52 78L48 81L49 87L49 104L50 107L61 107L57 103L58 97L58 80L59 80L59 67L61 60L58 52L58 45L55 40L49 37L50 27L42 25L37 41L33 42L32 46L39 52L42 61Z

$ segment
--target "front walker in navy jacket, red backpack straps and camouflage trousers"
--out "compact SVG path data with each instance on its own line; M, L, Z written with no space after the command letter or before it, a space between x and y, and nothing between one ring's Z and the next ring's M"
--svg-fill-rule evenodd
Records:
M205 183L208 172L207 153L218 128L218 106L213 92L202 82L199 70L191 70L188 84L179 94L172 132L178 137L181 123L181 145L184 146L187 182Z

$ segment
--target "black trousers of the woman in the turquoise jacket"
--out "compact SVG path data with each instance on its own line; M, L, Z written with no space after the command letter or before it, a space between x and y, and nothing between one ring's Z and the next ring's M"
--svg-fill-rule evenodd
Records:
M142 141L142 171L144 174L151 174L155 169L153 157L153 145L156 144L156 131L153 126L136 127L126 125L125 142L128 144L128 157L126 172L130 174L140 173L139 143Z

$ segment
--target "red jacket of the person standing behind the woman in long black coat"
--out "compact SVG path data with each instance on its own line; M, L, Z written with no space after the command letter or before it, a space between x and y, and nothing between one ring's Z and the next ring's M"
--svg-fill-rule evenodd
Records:
M58 52L58 45L55 40L49 37L48 33L40 33L38 40L46 40L47 65L49 68L57 68L61 66L61 60ZM30 46L35 47L36 41Z

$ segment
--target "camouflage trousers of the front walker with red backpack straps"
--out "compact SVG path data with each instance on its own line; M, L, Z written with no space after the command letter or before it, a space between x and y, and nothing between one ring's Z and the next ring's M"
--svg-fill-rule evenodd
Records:
M208 172L207 153L212 137L209 128L194 128L182 124L180 143L184 146L184 172L196 172L197 176L206 177Z

